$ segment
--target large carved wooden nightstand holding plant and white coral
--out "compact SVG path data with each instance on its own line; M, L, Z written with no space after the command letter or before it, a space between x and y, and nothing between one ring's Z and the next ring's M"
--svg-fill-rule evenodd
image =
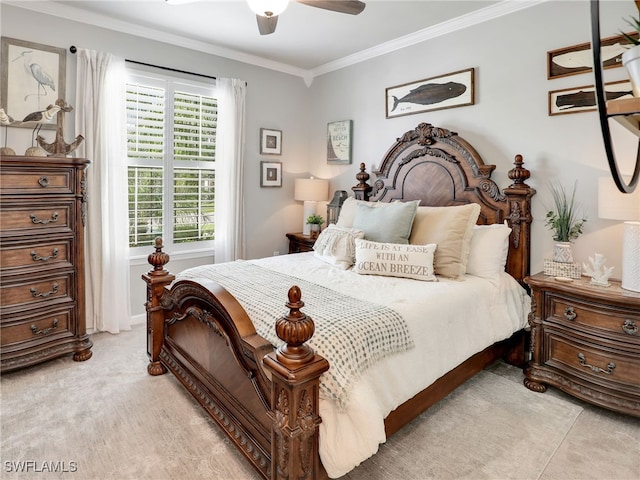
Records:
M524 384L553 385L589 403L640 416L640 293L588 277L527 277L531 354Z

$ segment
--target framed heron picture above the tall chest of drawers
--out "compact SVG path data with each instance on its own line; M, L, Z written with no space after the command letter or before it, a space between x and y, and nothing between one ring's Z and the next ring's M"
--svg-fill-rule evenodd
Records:
M2 108L14 120L46 110L65 98L67 54L50 47L2 37ZM57 116L42 128L55 129ZM15 125L33 128L33 124Z

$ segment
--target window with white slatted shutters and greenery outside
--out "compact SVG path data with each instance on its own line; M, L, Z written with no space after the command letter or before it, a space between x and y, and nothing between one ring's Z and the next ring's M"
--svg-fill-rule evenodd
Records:
M174 252L213 249L214 87L130 72L126 102L133 253L158 236Z

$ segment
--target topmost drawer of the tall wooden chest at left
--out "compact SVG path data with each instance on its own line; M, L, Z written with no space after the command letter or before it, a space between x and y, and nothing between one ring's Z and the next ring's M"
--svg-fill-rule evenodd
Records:
M33 171L2 171L0 193L6 195L70 194L73 193L73 169Z

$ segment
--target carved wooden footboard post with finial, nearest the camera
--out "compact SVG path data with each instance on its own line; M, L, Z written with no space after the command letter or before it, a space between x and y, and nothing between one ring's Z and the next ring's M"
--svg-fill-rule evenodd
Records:
M289 289L289 314L276 322L276 333L285 343L263 359L272 373L272 480L320 478L320 375L329 369L329 362L304 344L315 326L300 311L301 298L300 288Z

